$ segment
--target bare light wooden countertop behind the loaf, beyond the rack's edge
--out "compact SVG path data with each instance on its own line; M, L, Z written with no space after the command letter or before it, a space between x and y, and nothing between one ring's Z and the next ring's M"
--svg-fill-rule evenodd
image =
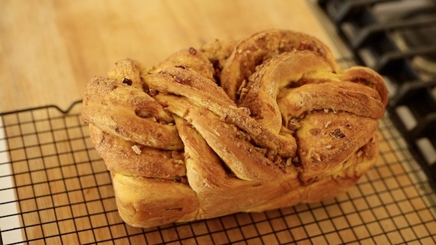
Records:
M94 75L214 39L288 28L329 43L310 1L1 1L0 111L81 100Z

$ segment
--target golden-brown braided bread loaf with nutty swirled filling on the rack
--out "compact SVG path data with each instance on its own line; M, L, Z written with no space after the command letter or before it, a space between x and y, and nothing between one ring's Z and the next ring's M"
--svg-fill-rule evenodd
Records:
M342 70L315 37L267 30L144 69L121 60L85 88L82 116L119 214L150 227L329 199L378 156L387 89Z

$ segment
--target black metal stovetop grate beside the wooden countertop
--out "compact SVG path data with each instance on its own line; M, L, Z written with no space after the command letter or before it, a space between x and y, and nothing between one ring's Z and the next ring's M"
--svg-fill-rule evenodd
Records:
M385 77L390 85L389 115L417 152L421 167L436 181L436 39L432 36L436 31L436 1L317 3L334 25L332 33L339 35L358 63ZM426 40L424 33L430 39Z

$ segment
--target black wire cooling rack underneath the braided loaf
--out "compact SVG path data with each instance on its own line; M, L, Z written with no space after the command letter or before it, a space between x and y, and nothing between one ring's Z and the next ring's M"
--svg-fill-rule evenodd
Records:
M436 244L436 194L388 116L380 158L335 199L133 228L117 213L81 102L0 114L2 244Z

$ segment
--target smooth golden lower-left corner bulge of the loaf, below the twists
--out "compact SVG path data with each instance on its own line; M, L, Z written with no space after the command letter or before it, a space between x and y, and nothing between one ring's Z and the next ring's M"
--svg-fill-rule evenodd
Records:
M151 227L195 218L199 204L185 183L112 172L121 218L131 226Z

